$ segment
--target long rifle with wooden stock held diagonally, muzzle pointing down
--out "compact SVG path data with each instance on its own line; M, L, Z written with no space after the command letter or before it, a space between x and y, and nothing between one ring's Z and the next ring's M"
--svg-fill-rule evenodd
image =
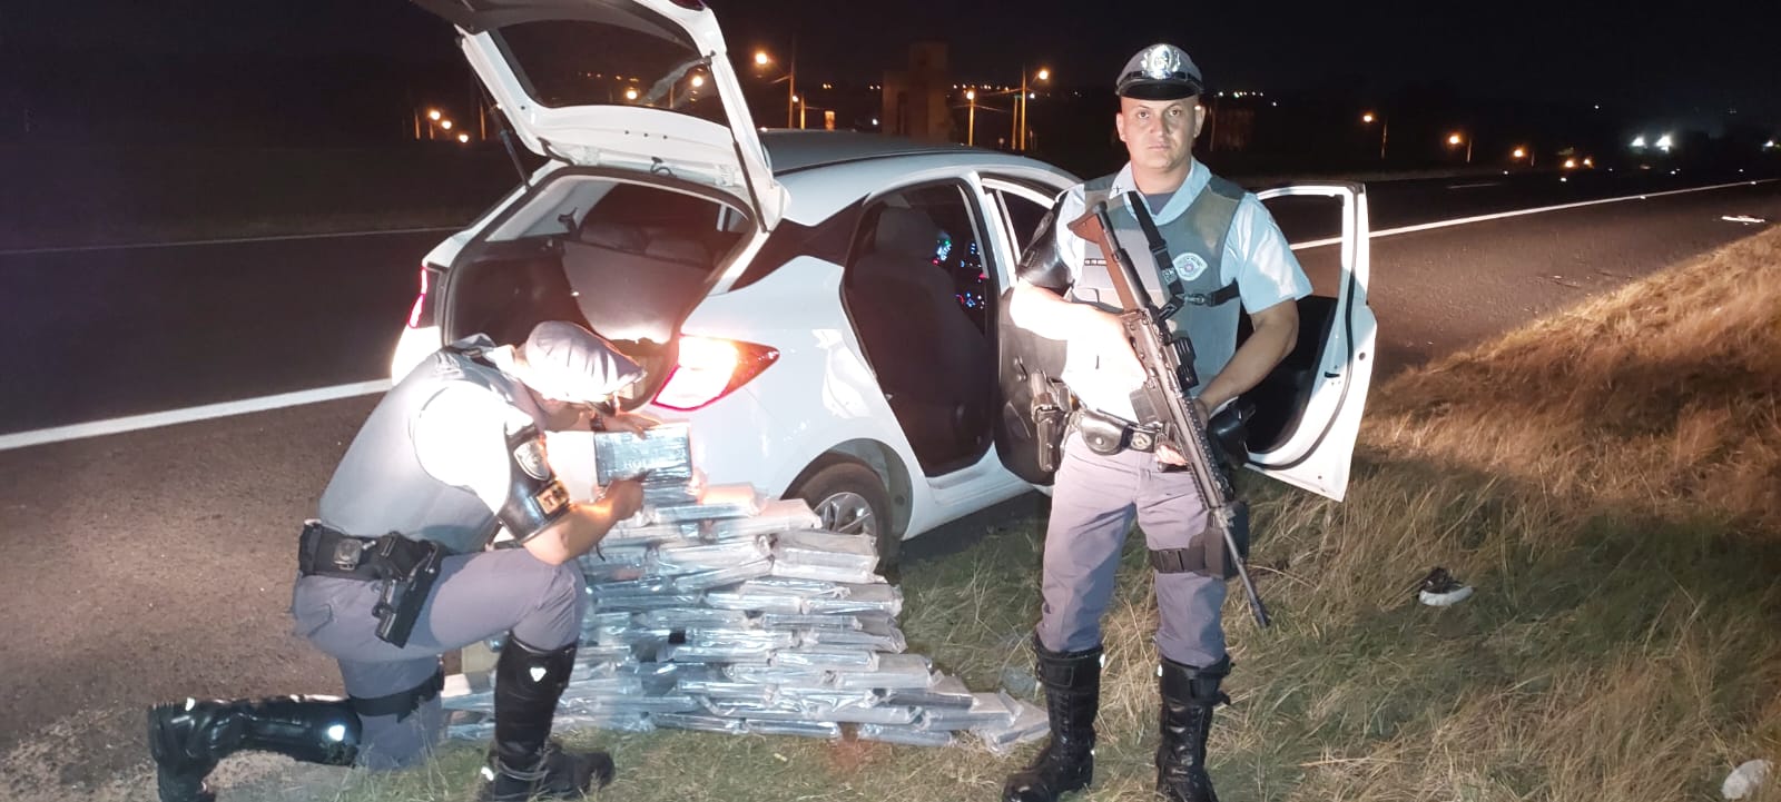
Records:
M1161 270L1172 269L1168 244L1151 221L1151 210L1136 192L1115 196L1111 199L1126 206L1143 231L1143 251L1151 258L1152 274L1163 279ZM1118 240L1118 229L1108 213L1108 201L1095 203L1083 217L1072 221L1070 233L1101 247L1106 258L1108 276L1113 279L1113 292L1124 309L1120 322L1126 325L1126 338L1131 350L1143 366L1143 386L1131 393L1133 411L1138 425L1151 430L1156 441L1172 446L1186 457L1188 471L1193 473L1193 485L1200 503L1206 505L1208 526L1215 537L1224 541L1224 562L1236 565L1236 574L1243 580L1243 592L1248 596L1248 610L1256 614L1256 622L1268 626L1268 608L1256 594L1256 583L1243 565L1243 551L1236 542L1236 528L1248 521L1247 505L1231 489L1231 478L1213 457L1211 439L1206 436L1206 423L1191 409L1188 389L1199 386L1193 372L1193 341L1186 334L1168 331L1168 317L1175 313L1181 299L1168 304L1152 302L1131 254ZM1127 231L1129 237L1129 231ZM1245 537L1247 539L1247 537ZM1227 565L1208 565L1229 578Z

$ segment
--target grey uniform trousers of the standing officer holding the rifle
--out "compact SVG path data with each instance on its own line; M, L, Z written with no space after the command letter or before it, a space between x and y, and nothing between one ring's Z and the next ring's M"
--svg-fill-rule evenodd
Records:
M1113 573L1133 519L1152 549L1197 544L1206 507L1186 471L1163 471L1156 457L1090 452L1078 432L1063 441L1045 526L1044 612L1038 642L1049 651L1101 646L1101 615L1113 597ZM1177 663L1206 667L1225 656L1222 578L1156 574L1156 649Z

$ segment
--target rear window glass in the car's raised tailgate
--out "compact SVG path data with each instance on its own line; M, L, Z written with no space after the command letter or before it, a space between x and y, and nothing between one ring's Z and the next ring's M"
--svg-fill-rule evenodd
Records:
M534 21L497 34L525 92L545 107L641 105L728 124L707 60L666 21Z

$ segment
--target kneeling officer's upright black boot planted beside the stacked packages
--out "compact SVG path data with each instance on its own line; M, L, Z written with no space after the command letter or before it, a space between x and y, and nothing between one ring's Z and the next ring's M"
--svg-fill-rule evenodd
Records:
M581 798L613 781L606 752L565 752L550 740L556 702L575 667L575 644L541 651L508 635L495 660L495 743L483 768L484 802Z

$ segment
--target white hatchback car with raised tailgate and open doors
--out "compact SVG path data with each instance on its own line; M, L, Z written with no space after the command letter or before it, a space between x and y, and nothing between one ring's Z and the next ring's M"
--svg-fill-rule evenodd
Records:
M964 146L757 130L698 0L415 2L459 28L549 162L426 256L395 379L467 334L584 324L645 365L627 407L689 421L711 484L803 498L885 555L1047 484L1024 400L997 382L1019 386L1003 340L1024 334L1003 295L1074 176ZM1250 468L1339 498L1371 373L1366 199L1277 194L1341 201L1343 270L1250 395Z

